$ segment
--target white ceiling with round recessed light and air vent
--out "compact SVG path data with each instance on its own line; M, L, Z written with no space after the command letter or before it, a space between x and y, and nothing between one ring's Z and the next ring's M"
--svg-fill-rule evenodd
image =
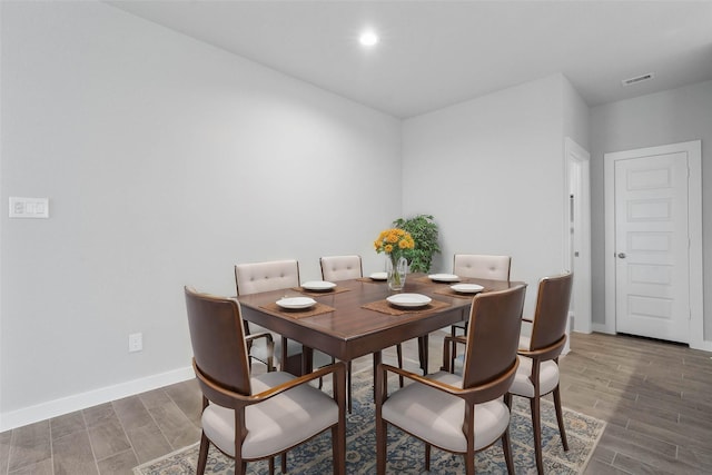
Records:
M712 79L710 0L108 3L400 118L557 72L589 106Z

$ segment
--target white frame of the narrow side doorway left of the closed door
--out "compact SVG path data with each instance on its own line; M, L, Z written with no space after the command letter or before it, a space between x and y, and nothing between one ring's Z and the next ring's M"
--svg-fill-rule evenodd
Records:
M566 205L564 210L564 266L574 270L572 255L578 251L576 269L574 273L573 309L574 320L571 330L591 333L591 154L566 137L564 142L564 157L566 160ZM576 175L576 178L573 175ZM578 216L578 228L574 228L581 243L580 249L572 248L571 239L571 192L575 191L577 200L575 207ZM571 314L570 314L571 315ZM570 321L571 323L571 321Z

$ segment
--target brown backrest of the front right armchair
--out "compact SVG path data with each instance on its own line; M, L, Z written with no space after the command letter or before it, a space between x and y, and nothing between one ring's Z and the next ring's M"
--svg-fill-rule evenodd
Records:
M478 294L473 299L463 367L464 388L495 380L516 364L525 294L526 286L517 285Z

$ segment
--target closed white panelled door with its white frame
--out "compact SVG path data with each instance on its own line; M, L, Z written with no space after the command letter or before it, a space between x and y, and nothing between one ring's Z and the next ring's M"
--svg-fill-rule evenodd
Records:
M701 344L701 142L605 154L604 175L606 330Z

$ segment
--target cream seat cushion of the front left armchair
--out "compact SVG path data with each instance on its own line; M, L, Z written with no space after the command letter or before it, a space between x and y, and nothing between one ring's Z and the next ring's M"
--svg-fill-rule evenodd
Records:
M294 379L288 373L271 372L251 378L253 394ZM243 457L255 459L278 454L338 422L338 405L327 394L303 384L245 409L247 437ZM235 414L216 404L202 412L206 436L235 456Z

